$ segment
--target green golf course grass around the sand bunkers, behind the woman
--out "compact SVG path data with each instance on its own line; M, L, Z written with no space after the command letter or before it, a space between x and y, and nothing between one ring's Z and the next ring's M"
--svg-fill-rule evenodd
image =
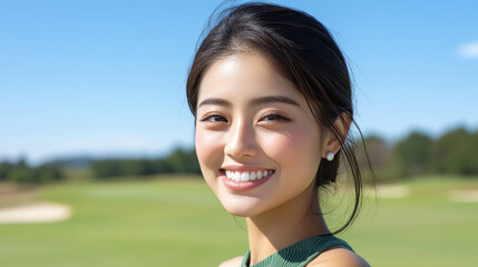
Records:
M411 179L406 198L365 201L340 237L372 266L475 266L478 202L451 189L478 179ZM75 182L42 187L38 200L71 206L60 222L0 225L0 266L217 266L247 249L244 222L201 179Z

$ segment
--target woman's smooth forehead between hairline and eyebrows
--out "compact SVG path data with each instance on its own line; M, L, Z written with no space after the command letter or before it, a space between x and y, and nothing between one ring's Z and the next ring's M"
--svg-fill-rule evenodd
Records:
M241 52L215 61L201 82L198 100L209 97L244 99L269 95L305 101L294 85L257 52Z

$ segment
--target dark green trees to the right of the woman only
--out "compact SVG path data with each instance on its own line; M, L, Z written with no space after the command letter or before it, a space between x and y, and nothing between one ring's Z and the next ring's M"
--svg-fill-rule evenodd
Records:
M436 139L425 132L412 131L393 145L369 136L364 144L378 180L428 174L478 176L478 130L457 128ZM360 144L358 151L359 165L365 168Z

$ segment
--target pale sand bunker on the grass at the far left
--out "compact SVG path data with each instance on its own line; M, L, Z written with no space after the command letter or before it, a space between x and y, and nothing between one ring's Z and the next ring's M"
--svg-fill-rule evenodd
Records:
M53 202L32 202L0 209L0 224L38 224L66 220L71 216L68 206Z

